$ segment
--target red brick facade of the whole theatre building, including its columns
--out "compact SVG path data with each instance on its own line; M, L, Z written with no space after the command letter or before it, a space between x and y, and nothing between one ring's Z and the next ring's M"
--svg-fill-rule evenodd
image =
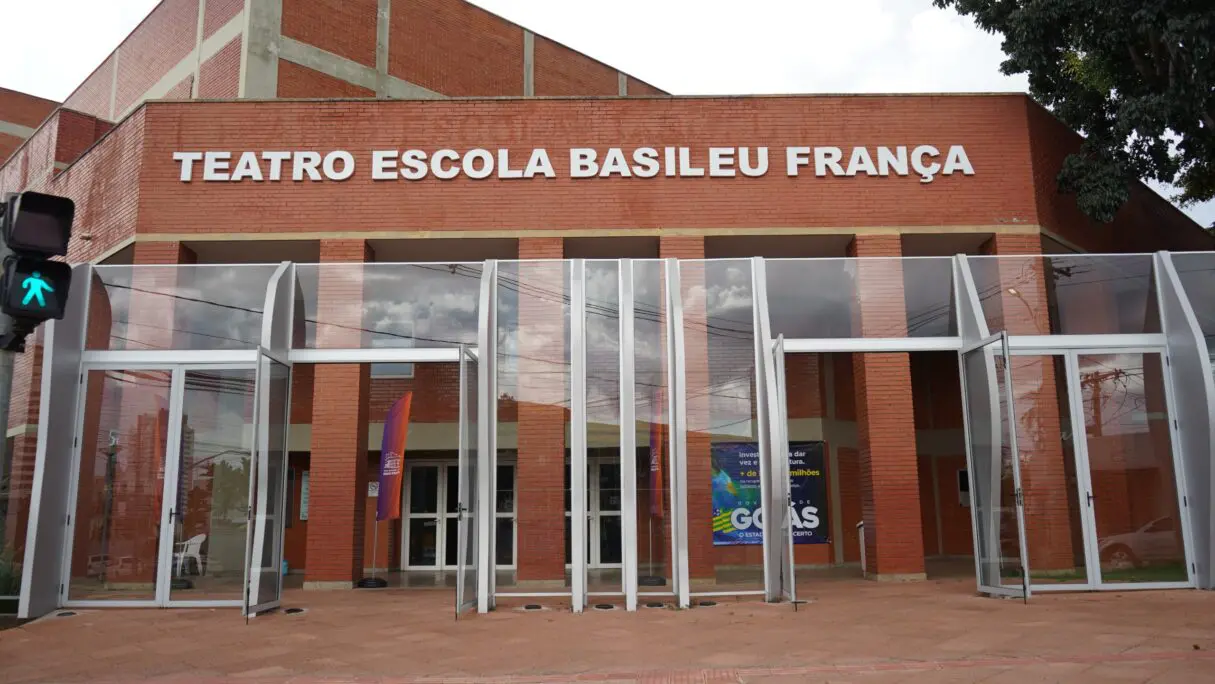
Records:
M225 27L231 32L243 4L207 0L202 17L199 7L199 0L159 5L63 108L12 147L12 157L0 166L0 192L40 190L73 198L73 261L147 266L262 262L279 256L309 260L295 256L304 254L321 262L355 265L373 261L380 250L412 254L424 249L417 245L436 238L442 242L435 244L451 245L452 260L462 249L501 251L507 249L502 244L512 245L502 256L533 260L512 266L518 270L510 273L519 293L518 318L512 321L518 327L518 367L512 371L514 385L499 388L498 397L499 420L516 429L520 582L560 583L565 578L570 364L563 304L569 293L563 284L565 266L556 260L569 255L571 247L604 259L645 251L646 258L686 260L677 294L684 304L679 354L688 380L689 570L694 587L710 588L722 582L723 571L753 571L762 565L758 548L712 543L711 448L723 437L714 431L710 389L723 373L752 364L753 356L751 339L723 343L708 332L716 313L703 293L714 276L705 262L694 260L705 259L711 241L720 241L719 245L735 241L729 243L734 247L720 248L735 258L765 251L761 247L765 241L787 241L781 244L790 249L796 245L836 258L898 258L911 239L921 239L916 243L921 251L937 255L1039 255L1044 241L1090 251L1210 249L1215 244L1143 188L1136 188L1113 227L1095 226L1079 215L1074 200L1059 196L1053 185L1058 164L1079 139L1021 95L677 98L623 75L627 97L589 97L618 95L622 74L456 0L390 4L386 66L379 64L385 70L375 74L373 89L358 74L374 72L383 62L377 35L385 27L379 24L375 0L283 0L281 35L303 44L309 55L320 50L327 60L341 58L341 69L276 57L267 68L276 78L273 95L283 101L238 101L248 96L242 84L252 72L242 74L241 68L249 61L242 58L249 36L225 33L213 44L226 43L213 45L214 52L203 58L199 34L205 43ZM384 96L378 91L388 78L457 100L372 101ZM525 92L527 84L531 92ZM145 102L187 98L196 85L198 97L216 101ZM10 120L5 118L7 102L6 91L0 91L4 120ZM22 120L33 121L35 114ZM115 124L115 119L122 120ZM11 142L0 136L0 157ZM632 152L666 145L686 148L689 164L699 166L707 165L711 147L746 146L755 153L764 147L769 168L761 177L661 173L649 179L576 179L570 174L569 149L573 147L593 147L603 160L612 147ZM854 148L932 145L943 162L950 146L963 146L973 174L938 175L932 182L920 182L914 173L816 176L813 154L799 171L786 170L786 147L815 145L838 146L843 164ZM463 153L476 147L508 151L513 168L526 164L532 149L544 148L555 177L372 177L374 151L452 148ZM199 162L192 180L182 182L181 164L174 160L176 152L216 151L232 153L234 163L244 151L279 149L347 151L356 173L341 181L204 182ZM1051 323L1049 273L1042 262L1016 268L1001 262L995 272L998 283L1017 279L1024 287L991 298L993 330L1042 332ZM160 273L154 277L164 287L166 276ZM863 294L853 310L853 337L905 337L902 264L863 261L855 278ZM402 298L408 295L402 293ZM164 306L146 293L132 296L154 311ZM362 276L322 276L317 309L330 324L317 330L318 346L364 346L368 323L362 309L350 305L363 296ZM1095 311L1091 317L1102 321L1111 315ZM169 324L154 346L174 346L173 316L171 305L166 306L162 318ZM659 313L663 322L665 317L666 312ZM663 329L662 344L666 334ZM90 334L91 349L107 344ZM26 433L15 439L13 473L32 471L33 447L26 435L38 422L38 351L30 351L16 367L10 426ZM1033 361L1018 357L1013 373L1018 364ZM1066 409L1061 406L1066 403L1061 405L1052 364L1042 363L1035 373L1041 386L1017 398L1019 411L1035 416L1041 439L1041 443L1021 445L1023 452L1035 454L1023 473L1027 527L1034 539L1030 564L1068 571L1075 567L1075 545L1067 493L1074 474L1067 473L1069 456L1062 447ZM956 367L948 360L905 352L807 355L789 358L787 375L791 420L831 423L840 434L852 430L855 435L825 440L829 479L838 490L829 494L838 533L832 532L831 544L798 547L801 564L859 561L854 526L860 521L865 524L866 571L878 578L922 577L926 556L971 553L970 513L955 494L957 473L965 468L963 450L954 439L961 430ZM755 397L753 373L750 381ZM303 491L296 477L295 520L286 545L289 565L304 570L309 586L350 586L366 566L399 563L399 525L382 525L380 558L372 563L368 555L374 504L366 494L374 473L368 425L383 420L391 401L407 389L417 392L414 422L451 423L458 397L452 385L451 366L419 368L412 379L373 379L366 364L295 367L292 423L310 425L310 439L300 445L306 451L290 460L294 470L310 474L310 514L307 521L298 520ZM1159 396L1149 397L1157 408L1159 401ZM90 407L101 402L100 395L90 394ZM84 419L86 434L92 433L89 439L96 441L103 436L102 418L91 411L85 411ZM163 447L159 407L124 406L122 411L122 422L140 440L134 450L148 456ZM1165 428L1153 425L1158 448L1168 439ZM954 439L955 446L929 452L919 441L927 439L926 433ZM1136 487L1163 487L1142 480L1123 477L1101 486L1119 501L1140 496ZM640 510L649 509L650 496L638 502ZM94 498L80 501L85 508L95 503ZM146 511L140 507L154 503L149 497L132 502L137 515L124 524L141 524ZM1124 519L1104 524L1121 528L1153 513L1124 511L1118 514ZM21 527L19 518L6 521L6 530ZM643 535L645 544L650 531ZM669 571L669 528L660 522L654 536L654 558L646 552L643 561L652 560ZM86 548L78 552L87 556Z

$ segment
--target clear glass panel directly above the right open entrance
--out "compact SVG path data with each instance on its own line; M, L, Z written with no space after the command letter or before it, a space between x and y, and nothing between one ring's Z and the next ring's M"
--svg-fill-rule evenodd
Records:
M957 334L950 258L768 259L765 270L774 338ZM887 301L898 313L860 324L861 306Z

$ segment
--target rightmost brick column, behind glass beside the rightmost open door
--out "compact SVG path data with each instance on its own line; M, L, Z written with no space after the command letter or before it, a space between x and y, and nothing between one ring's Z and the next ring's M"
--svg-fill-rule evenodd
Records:
M995 256L1041 255L1036 234L996 234L983 247ZM991 332L1015 335L1049 334L1051 329L1046 265L1041 259L1000 259L995 272L1000 295L988 316ZM1066 378L1057 378L1051 357L1012 357L1016 397L1017 448L1024 494L1025 542L1030 571L1070 571L1076 566L1073 549L1075 462L1064 448L1062 418L1067 416ZM1084 439L1084 426L1072 434ZM1070 474L1070 477L1069 477ZM1078 550L1078 549L1076 549Z

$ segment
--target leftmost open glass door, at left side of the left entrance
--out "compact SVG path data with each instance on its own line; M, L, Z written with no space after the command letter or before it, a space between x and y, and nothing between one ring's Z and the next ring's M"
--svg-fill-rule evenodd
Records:
M244 615L278 607L283 593L283 502L292 371L261 349L254 390L254 456L249 475L249 541Z

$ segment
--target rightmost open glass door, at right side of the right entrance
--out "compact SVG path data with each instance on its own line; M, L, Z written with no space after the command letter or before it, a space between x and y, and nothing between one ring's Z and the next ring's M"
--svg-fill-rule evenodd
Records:
M1025 598L1029 567L1010 367L1005 333L961 351L979 592Z

